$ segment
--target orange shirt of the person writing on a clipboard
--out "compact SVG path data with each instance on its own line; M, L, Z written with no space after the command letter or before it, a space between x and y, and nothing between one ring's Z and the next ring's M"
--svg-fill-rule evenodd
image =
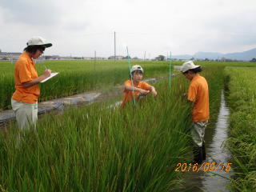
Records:
M22 86L22 82L29 82L38 78L34 62L26 52L23 52L15 63L14 78L15 92L12 98L18 102L37 102L40 94L39 86L34 85L27 88Z

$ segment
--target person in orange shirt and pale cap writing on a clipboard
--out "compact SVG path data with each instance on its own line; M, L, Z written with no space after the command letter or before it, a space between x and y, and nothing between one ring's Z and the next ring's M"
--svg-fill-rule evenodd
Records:
M52 44L42 37L30 38L24 52L15 63L15 92L11 98L11 106L21 130L26 126L34 126L38 119L38 97L40 95L38 83L48 78L51 70L45 70L38 77L33 59L39 58L50 46Z

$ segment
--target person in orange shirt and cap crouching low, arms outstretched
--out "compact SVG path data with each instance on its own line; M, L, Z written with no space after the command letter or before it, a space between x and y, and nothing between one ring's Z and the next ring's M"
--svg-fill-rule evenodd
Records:
M131 99L138 99L141 96L146 96L146 94L150 92L154 96L158 94L154 89L154 86L150 86L150 84L142 82L142 66L132 66L130 69L130 74L133 81L127 80L125 82L124 96L121 104L122 107L125 106L126 102L129 102Z

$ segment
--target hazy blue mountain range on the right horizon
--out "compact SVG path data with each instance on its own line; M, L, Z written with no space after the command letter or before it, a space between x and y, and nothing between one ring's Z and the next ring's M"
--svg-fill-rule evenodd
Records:
M190 59L190 58L198 58L198 59L217 59L217 58L227 58L227 59L236 59L236 60L244 60L249 61L252 58L256 58L256 48L252 50L247 50L239 53L231 53L231 54L221 54L218 52L197 52L194 55L184 54L184 55L174 55L173 58L177 59Z

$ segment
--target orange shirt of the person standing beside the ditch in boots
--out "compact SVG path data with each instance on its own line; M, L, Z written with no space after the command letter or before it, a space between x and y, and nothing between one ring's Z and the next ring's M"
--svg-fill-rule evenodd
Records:
M205 122L209 115L209 93L206 78L196 74L190 82L187 99L194 102L192 122Z

